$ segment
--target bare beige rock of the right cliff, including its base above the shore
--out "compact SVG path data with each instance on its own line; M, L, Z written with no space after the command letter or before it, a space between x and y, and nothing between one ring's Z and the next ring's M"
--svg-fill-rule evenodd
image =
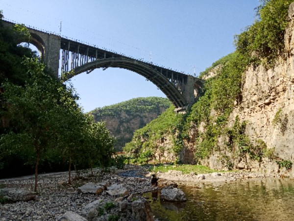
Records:
M239 116L246 122L245 134L253 145L263 141L267 149L274 149L278 159L294 161L294 3L289 8L290 23L285 34L285 58L280 58L275 66L249 67L242 84L242 102L235 104L229 117L228 127L232 127ZM223 138L225 139L225 138ZM220 139L221 140L221 139ZM220 143L224 143L220 141ZM191 144L187 144L187 147ZM235 168L263 172L286 172L279 168L275 160L252 160L248 155L233 156L222 145L201 163L211 168L223 169L221 157L228 156ZM294 177L294 170L288 175Z

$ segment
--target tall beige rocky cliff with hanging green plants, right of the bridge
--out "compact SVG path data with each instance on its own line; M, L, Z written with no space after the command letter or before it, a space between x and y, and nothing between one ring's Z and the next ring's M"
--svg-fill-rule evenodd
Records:
M270 7L275 3L270 1ZM266 10L271 10L270 7ZM237 43L239 60L234 54L228 55L220 60L223 62L216 62L210 71L205 71L202 76L207 79L205 95L182 120L171 124L172 132L161 131L153 136L156 132L146 127L140 131L140 139L133 137L129 152L145 156L151 149L154 154L150 158L154 161L177 158L182 163L200 163L221 170L262 171L294 177L294 3L290 4L286 20L284 39L278 42L283 42L283 49L276 50L279 56L274 62L268 46L264 57L260 54L263 51L252 51L248 58L243 54L246 50L238 51ZM265 20L263 24L269 22ZM254 31L241 34L241 43L247 44L242 40ZM254 56L261 57L259 63ZM267 57L272 62L270 65L265 65ZM236 61L244 62L245 69ZM241 74L238 69L242 69ZM171 116L162 122L168 119Z

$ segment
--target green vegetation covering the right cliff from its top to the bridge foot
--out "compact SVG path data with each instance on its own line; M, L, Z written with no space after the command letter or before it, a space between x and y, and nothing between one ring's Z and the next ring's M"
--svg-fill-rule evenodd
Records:
M234 105L242 101L242 78L250 65L262 64L271 67L276 58L285 52L284 34L288 24L287 12L292 0L264 0L258 7L258 20L247 27L235 38L236 51L216 61L200 76L209 73L215 67L217 75L206 80L204 95L188 110L185 115L177 115L169 109L158 119L135 132L132 142L124 148L131 157L139 160L154 158L155 152L160 155L168 146L178 153L186 141L195 142L196 159L209 157L218 150L221 136L229 139L228 150L240 147L237 155L250 153L253 159L261 159L264 147L254 147L245 136L244 122L236 117L233 127L227 126L227 119ZM201 130L199 129L201 128ZM243 129L236 129L243 128ZM195 137L190 136L194 130ZM161 139L169 137L170 144L161 145ZM246 150L245 152L242 150ZM257 151L258 150L258 151ZM153 153L152 156L145 152ZM148 158L148 160L150 160ZM223 156L228 168L232 162L228 156Z

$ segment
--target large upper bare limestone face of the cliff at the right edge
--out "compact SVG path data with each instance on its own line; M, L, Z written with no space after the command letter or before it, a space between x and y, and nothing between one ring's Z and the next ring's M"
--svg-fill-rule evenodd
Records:
M289 8L291 22L285 34L289 54L267 70L250 67L245 73L240 105L230 116L247 121L246 135L251 142L263 140L268 148L287 160L294 157L294 3Z

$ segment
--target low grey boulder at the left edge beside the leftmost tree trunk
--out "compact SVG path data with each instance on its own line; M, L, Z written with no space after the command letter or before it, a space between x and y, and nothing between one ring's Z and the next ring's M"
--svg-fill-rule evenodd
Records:
M7 201L29 201L36 197L36 193L23 188L3 188L0 189L0 196Z

